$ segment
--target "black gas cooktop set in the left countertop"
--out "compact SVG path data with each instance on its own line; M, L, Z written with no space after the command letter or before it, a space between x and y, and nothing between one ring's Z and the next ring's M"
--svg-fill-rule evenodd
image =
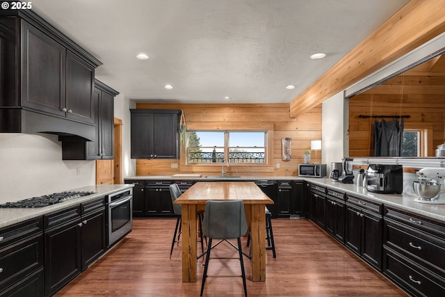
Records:
M65 191L60 193L54 193L50 195L43 195L40 197L28 198L17 202L6 202L0 204L0 208L37 208L47 207L52 204L72 200L82 196L94 194L92 191Z

